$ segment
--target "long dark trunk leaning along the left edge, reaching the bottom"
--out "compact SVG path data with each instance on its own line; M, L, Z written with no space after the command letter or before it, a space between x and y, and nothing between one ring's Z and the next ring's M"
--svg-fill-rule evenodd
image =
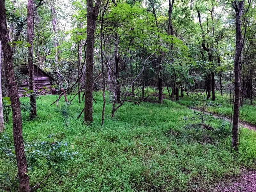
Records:
M29 178L27 175L27 162L23 144L20 100L17 89L17 83L14 77L12 65L12 51L9 44L8 29L6 23L4 0L0 0L0 40L4 55L4 69L6 84L9 90L11 106L12 106L12 133L14 141L15 156L17 160L18 175L20 180L20 192L29 192Z

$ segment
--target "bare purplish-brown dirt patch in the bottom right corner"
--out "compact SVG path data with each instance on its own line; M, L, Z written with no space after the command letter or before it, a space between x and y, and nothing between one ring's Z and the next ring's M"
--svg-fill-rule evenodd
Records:
M256 191L256 171L244 172L241 177L234 177L221 182L213 189L214 192L254 192Z

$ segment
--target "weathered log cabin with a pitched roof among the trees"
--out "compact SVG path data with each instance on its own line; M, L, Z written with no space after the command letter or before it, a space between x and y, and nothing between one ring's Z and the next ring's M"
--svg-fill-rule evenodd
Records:
M34 64L34 73L35 73L35 92L37 95L46 95L52 94L52 80L53 78L45 73L41 68L37 67ZM22 75L28 75L28 67L26 66L21 70ZM29 96L29 82L27 79L21 81L20 86L18 87L19 97Z

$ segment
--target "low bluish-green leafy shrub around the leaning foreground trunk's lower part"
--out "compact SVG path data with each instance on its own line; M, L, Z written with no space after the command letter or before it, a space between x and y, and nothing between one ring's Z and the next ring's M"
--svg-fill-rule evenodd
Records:
M65 146L67 146L67 143L62 141L26 143L24 147L28 164L27 174L33 175L38 170L45 170L50 174L54 172L60 176L67 174L65 162L72 159L77 152L70 152L67 149L63 149ZM6 135L2 135L0 138L0 156L4 154L10 160L10 163L15 166L16 157L12 139ZM46 177L49 177L50 174ZM0 173L0 183L0 189L2 188L7 191L18 190L19 183L17 176L13 177L9 172Z

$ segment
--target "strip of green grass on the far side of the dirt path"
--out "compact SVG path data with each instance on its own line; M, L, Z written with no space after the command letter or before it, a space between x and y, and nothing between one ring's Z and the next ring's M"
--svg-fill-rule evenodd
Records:
M216 97L218 100L212 101L211 99L204 100L202 97L196 97L196 94L190 94L190 97L187 97L186 93L184 93L184 97L180 97L177 102L187 107L202 108L205 105L209 112L231 117L232 104L230 105L230 95L224 94L221 96L219 92L216 92ZM233 96L231 100L233 100ZM244 105L240 108L240 120L256 125L256 108L249 104L250 100L244 100Z

